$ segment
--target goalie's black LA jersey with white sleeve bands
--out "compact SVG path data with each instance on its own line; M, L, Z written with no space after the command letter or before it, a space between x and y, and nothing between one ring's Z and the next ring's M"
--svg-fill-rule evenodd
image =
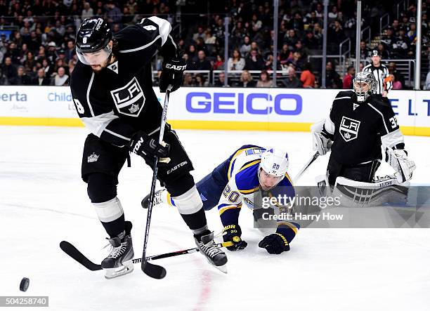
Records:
M404 147L393 108L376 95L359 104L353 91L339 92L324 129L333 140L332 157L341 164L382 159L381 145Z

